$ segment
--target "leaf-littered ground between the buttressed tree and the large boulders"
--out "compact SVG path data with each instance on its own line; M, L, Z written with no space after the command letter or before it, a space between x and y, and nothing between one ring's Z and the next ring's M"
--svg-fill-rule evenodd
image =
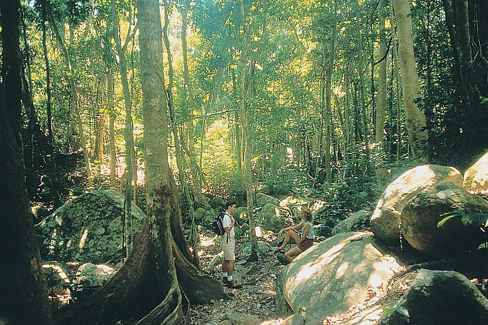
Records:
M212 259L220 252L220 245L213 238L202 235L200 246L200 270L222 283L221 264L211 266ZM273 238L262 238L271 243ZM236 267L234 279L242 283L242 288L224 287L225 298L208 305L190 307L191 324L213 325L223 321L225 314L251 315L269 325L279 325L283 319L275 319L275 281L283 266L276 259L276 253L261 255L260 260L246 260L242 243L236 243Z

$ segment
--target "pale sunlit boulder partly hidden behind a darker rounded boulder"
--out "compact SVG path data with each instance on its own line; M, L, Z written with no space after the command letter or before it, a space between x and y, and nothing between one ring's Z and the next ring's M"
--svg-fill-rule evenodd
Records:
M439 165L423 165L404 172L379 198L370 219L370 229L382 241L397 243L400 214L406 203L421 189L444 182L461 186L462 175L456 168Z

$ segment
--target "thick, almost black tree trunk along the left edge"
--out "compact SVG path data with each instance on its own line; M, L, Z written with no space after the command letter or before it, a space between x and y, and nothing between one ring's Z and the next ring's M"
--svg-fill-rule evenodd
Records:
M4 324L51 324L47 284L25 187L21 131L19 1L0 0L0 315Z

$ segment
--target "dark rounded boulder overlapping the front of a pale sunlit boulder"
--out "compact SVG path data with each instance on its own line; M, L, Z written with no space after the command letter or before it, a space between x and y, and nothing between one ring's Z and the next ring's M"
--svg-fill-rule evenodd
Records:
M422 189L402 211L401 231L409 244L425 253L452 254L476 248L484 239L479 225L464 226L454 217L438 227L442 214L461 210L488 213L488 202L451 182Z

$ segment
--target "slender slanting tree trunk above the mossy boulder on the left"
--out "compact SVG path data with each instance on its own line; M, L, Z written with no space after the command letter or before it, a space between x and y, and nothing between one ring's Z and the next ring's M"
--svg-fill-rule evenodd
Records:
M57 25L53 17L53 12L50 7L48 8L48 16L50 20L51 29L54 31L56 35L59 50L61 50L61 52L63 53L64 62L66 64L67 77L68 77L68 82L70 84L71 99L73 100L75 115L78 122L79 142L83 149L86 178L88 179L88 186L91 187L93 186L93 175L91 174L90 156L88 155L88 147L86 147L86 140L83 132L82 112L79 110L78 93L77 93L75 79L74 79L75 77L73 76L73 66L71 65L71 59L70 59L68 48L64 42L64 39L62 39L61 35L59 34L59 30L57 29Z

